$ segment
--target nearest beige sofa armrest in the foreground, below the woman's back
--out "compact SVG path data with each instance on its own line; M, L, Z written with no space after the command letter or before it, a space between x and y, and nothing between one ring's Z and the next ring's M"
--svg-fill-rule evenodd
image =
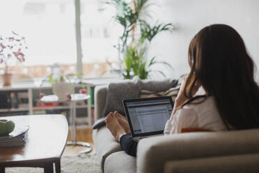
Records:
M164 172L169 160L209 158L259 153L259 130L180 133L140 140L138 172Z

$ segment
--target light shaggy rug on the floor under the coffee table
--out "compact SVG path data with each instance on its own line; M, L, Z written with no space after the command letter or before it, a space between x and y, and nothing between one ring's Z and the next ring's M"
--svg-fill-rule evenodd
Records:
M43 173L42 168L7 167L6 173ZM55 172L55 171L54 171ZM63 173L101 173L97 163L96 153L81 154L79 156L62 156L61 172Z

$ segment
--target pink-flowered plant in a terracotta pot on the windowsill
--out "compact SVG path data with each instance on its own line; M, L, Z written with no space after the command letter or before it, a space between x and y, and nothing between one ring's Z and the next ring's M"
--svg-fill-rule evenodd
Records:
M12 31L10 36L0 36L0 63L3 65L3 86L11 85L12 73L10 66L13 66L17 61L22 63L24 59L24 50L26 50L25 38L19 36Z

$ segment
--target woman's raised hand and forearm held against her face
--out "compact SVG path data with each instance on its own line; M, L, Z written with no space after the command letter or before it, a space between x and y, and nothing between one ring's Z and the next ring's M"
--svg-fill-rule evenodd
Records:
M187 82L188 78L189 78L189 76L185 79L184 82L182 82L182 84L180 86L180 90L178 92L178 96L175 98L175 104L173 105L173 113L172 113L172 115L175 114L175 112L180 107L182 107L183 104L185 104L189 100L189 98L187 98L185 96L185 93L184 93L185 88L186 88L186 82ZM198 89L200 87L201 87L201 84L199 84L199 82L196 81L195 84L194 84L194 87L192 88L191 96L194 96L197 93L197 91L198 91ZM172 116L171 116L171 118L172 118Z

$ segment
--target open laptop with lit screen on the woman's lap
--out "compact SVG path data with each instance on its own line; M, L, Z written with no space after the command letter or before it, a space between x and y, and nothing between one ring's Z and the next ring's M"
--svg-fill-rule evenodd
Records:
M173 111L173 100L170 96L126 99L123 107L132 138L138 141L143 137L164 134L166 121Z

